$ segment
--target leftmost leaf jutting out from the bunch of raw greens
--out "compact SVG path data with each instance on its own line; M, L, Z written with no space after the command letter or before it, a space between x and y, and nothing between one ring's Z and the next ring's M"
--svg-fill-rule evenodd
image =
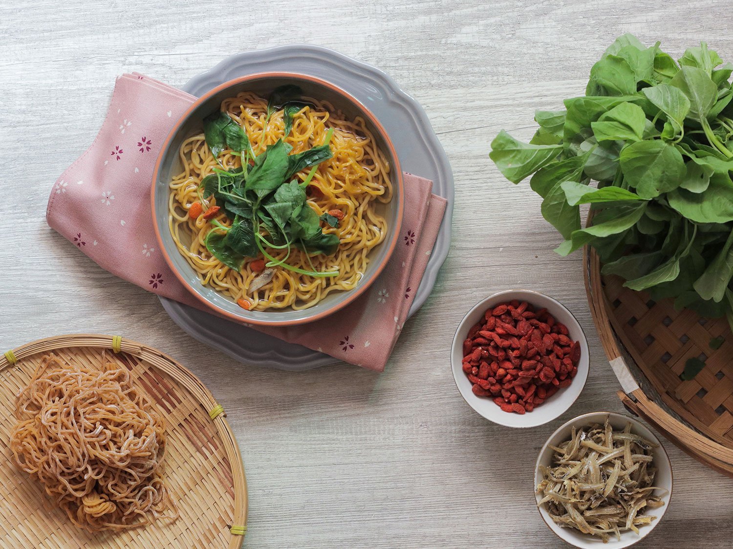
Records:
M531 145L517 141L504 130L491 142L489 157L512 183L549 164L562 151L561 145Z

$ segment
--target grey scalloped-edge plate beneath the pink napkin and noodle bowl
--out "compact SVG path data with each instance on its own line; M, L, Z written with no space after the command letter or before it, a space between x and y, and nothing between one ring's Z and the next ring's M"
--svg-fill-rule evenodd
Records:
M227 57L194 76L183 91L196 97L221 83L254 72L304 72L330 81L364 103L385 127L404 171L432 179L432 192L448 200L438 239L415 294L410 316L423 305L448 255L453 212L453 173L438 136L416 100L384 72L314 45L285 45ZM245 364L281 370L309 370L339 362L333 356L286 343L194 307L161 297L166 313L188 335Z

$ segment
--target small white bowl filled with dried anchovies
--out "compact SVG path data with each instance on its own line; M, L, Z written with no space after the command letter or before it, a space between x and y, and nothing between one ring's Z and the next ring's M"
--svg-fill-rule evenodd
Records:
M614 412L583 414L559 427L534 469L542 520L581 549L622 549L647 536L669 506L672 484L655 434Z

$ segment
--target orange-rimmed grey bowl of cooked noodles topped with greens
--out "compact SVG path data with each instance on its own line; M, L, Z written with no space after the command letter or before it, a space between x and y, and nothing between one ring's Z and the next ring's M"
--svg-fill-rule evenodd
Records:
M304 324L362 294L402 221L402 171L380 122L334 84L268 72L199 97L152 181L161 250L233 321Z

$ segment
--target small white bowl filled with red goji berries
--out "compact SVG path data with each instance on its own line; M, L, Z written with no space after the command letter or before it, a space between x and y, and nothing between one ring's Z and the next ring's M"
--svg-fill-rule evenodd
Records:
M531 290L498 292L460 322L451 350L461 396L486 419L537 427L566 411L586 384L588 342L559 301Z

